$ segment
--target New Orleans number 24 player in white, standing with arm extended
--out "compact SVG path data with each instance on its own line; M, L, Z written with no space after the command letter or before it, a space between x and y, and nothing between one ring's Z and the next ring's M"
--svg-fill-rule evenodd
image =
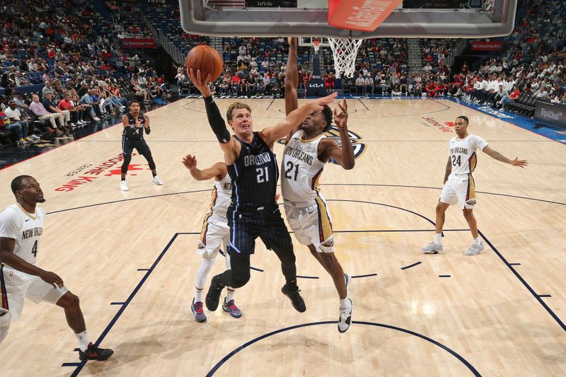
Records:
M468 122L468 117L463 115L457 117L456 122L454 122L454 130L457 136L449 141L444 187L442 187L439 203L437 204L437 230L432 243L421 248L424 253L437 254L442 251L440 238L442 226L444 226L444 214L451 204L458 203L463 210L464 218L468 221L473 237L473 244L464 255L476 255L483 250L484 246L478 235L478 224L473 216L473 209L477 202L473 178L473 172L478 163L478 156L475 154L475 151L479 149L487 156L495 158L497 161L509 163L512 166L520 166L521 168L527 166L526 160L518 160L517 158L511 160L487 146L487 141L481 137L468 134Z

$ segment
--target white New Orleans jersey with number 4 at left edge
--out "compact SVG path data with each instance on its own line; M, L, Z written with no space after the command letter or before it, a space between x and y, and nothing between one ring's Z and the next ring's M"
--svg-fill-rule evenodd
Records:
M13 253L25 262L37 265L37 248L43 233L45 211L35 207L28 214L20 204L12 204L0 214L0 237L16 240Z

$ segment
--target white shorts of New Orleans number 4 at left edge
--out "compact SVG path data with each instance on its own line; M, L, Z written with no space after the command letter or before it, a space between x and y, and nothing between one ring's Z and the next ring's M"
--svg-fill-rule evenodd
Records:
M54 288L40 277L25 274L8 266L0 267L0 306L9 312L13 320L18 320L22 313L24 298L34 303L45 301L55 304L69 291L65 286ZM3 315L1 318L6 317Z

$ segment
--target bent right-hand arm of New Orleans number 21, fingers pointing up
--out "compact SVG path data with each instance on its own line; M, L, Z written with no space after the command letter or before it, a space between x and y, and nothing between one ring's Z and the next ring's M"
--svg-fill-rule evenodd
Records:
M342 99L342 103L338 103L334 109L334 123L338 132L340 132L342 148L333 139L326 138L320 141L323 153L333 158L342 168L350 170L354 168L356 161L354 159L354 147L348 135L348 105L345 99Z

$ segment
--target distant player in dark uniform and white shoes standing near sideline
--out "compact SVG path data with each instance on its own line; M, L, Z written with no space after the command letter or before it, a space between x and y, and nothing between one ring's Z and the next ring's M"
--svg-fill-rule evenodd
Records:
M149 118L139 112L139 102L133 100L129 103L129 112L122 117L124 124L124 132L122 132L122 154L124 155L124 162L122 163L122 180L120 181L120 190L129 191L126 184L126 174L128 173L128 166L132 161L132 151L134 148L141 156L144 156L151 169L151 174L154 178L151 182L156 185L163 185L163 181L159 179L155 170L154 158L151 157L151 150L144 140L144 129L146 134L151 132L149 128Z

